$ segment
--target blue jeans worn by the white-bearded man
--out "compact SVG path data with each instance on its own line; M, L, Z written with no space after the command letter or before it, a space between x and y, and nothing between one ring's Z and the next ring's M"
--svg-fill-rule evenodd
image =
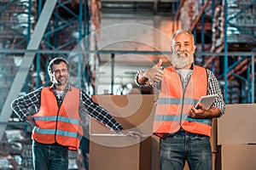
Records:
M211 170L210 138L181 130L161 140L161 170L183 170L186 160L189 163L189 170Z

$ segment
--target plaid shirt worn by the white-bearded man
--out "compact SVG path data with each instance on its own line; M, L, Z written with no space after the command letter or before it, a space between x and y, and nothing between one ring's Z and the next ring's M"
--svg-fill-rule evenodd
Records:
M187 86L187 83L189 82L190 76L193 72L193 66L192 65L192 70L191 72L187 75L187 77L181 77L181 81L183 82L183 87L185 88ZM144 87L144 88L151 88L152 86L150 86L148 83L146 84L139 84L137 82L138 79L138 75L139 75L140 71L137 72L136 74L136 80L135 82L137 83L137 85L139 87ZM177 73L180 74L180 72L177 70ZM217 99L215 100L215 102L212 104L212 107L217 107L220 111L221 114L220 116L222 116L224 114L225 111L225 103L224 103L224 99L223 99L223 95L221 92L221 89L219 87L218 84L218 80L217 78L214 76L213 72L207 69L207 76L208 76L208 87L207 87L207 95L212 95L212 94L218 94ZM161 82L159 82L156 85L156 88L158 88L160 90L161 86L160 86Z

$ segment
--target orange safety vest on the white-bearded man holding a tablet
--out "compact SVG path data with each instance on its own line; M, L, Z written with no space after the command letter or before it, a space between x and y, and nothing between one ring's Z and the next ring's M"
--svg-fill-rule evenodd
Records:
M190 133L211 136L212 119L194 119L189 117L189 108L195 105L203 95L207 95L207 70L194 66L185 89L177 71L172 67L164 70L160 96L154 116L153 132L176 133L180 127Z

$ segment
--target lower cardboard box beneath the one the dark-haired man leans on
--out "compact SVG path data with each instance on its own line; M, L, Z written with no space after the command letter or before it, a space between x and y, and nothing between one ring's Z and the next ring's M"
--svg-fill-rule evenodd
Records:
M150 138L133 139L126 136L90 136L90 170L150 170L151 166L151 141ZM113 143L126 143L133 140L130 145L114 146L103 145L94 141L108 140ZM148 150L149 148L149 150Z

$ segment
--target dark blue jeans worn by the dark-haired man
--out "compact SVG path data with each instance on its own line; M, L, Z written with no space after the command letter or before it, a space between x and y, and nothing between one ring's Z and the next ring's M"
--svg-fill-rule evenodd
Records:
M35 170L68 169L68 150L60 144L40 144L33 140L32 156Z

